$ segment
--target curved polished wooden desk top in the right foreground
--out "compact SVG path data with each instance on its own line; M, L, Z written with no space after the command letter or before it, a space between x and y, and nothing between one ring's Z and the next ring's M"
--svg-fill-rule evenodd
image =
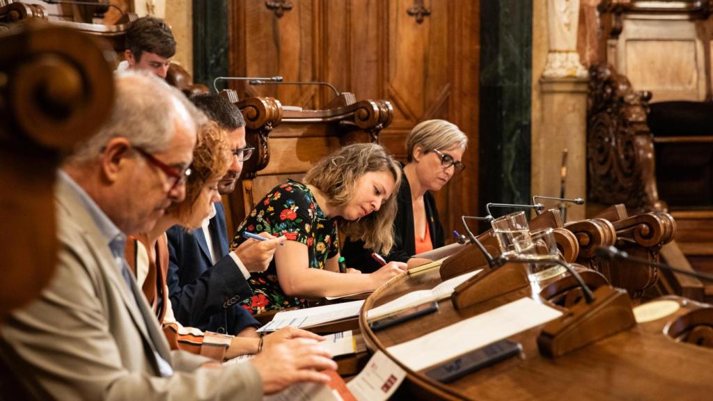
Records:
M455 310L443 300L438 312L377 333L366 324L366 311L413 290L441 282L437 270L403 275L376 290L364 304L359 325L371 351L413 340L479 313L530 296L530 289ZM661 333L662 321L637 325L557 359L543 357L536 339L542 326L509 338L523 345L525 357L511 358L443 385L424 371L407 374L399 394L447 400L704 400L713 389L713 350L677 343ZM389 355L392 359L391 355ZM396 360L398 363L399 361ZM576 397L576 398L575 398Z

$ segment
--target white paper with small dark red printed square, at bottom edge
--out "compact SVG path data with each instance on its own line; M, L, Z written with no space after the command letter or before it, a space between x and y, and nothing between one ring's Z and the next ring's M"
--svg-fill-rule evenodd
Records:
M404 377L406 372L396 362L384 352L376 351L359 375L347 383L347 388L358 401L383 401L394 394Z

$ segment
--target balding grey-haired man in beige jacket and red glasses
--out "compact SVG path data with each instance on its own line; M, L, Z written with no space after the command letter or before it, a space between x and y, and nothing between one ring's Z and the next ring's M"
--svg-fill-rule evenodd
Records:
M0 328L0 355L35 399L259 400L335 369L314 340L285 340L252 360L215 365L171 351L123 258L125 234L153 227L185 197L203 118L144 73L116 77L110 121L61 166L60 251L41 298Z

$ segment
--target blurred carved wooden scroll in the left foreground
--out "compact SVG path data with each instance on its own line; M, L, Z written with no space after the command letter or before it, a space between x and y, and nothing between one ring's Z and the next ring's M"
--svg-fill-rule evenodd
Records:
M111 51L103 45L46 24L0 35L0 321L36 297L54 270L56 168L113 105Z

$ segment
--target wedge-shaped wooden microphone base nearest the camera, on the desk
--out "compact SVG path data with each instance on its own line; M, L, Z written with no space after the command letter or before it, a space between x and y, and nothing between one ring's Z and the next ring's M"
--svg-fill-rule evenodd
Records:
M545 325L538 336L540 354L559 357L636 325L632 303L626 290L602 286L594 300L586 300Z

